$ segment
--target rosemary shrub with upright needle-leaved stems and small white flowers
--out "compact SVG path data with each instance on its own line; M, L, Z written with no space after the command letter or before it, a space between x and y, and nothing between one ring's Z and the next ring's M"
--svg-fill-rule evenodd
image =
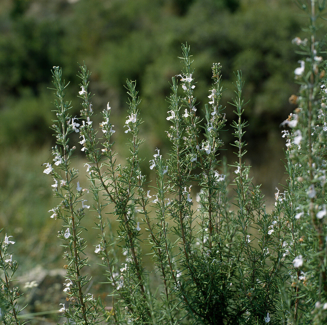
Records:
M213 64L213 84L201 119L193 60L187 44L182 46L183 69L172 78L167 98L171 150L164 159L156 149L149 166L156 183L148 187L139 155L142 112L136 83L126 85L129 157L122 166L116 162L119 148L112 141L109 103L99 129L92 122L95 112L85 64L79 72L79 121L69 113L70 103L64 99L67 85L61 69L54 67L57 99L52 128L57 145L52 148L53 163L44 172L53 177L53 191L60 199L49 212L63 225L58 237L66 250L67 301L60 309L64 324L327 323L327 82L321 57L324 43L316 40L323 6L312 0L302 8L310 17L311 38L293 40L304 57L295 70L300 91L290 98L297 108L282 123L288 182L284 191L276 188L271 212L244 161L247 122L242 117L240 71L230 103L236 115L232 122L236 159L228 165L218 154L227 122L220 104L221 65ZM69 136L77 132L80 145L71 145ZM84 152L89 161L85 165L89 189L79 186L79 171L70 166L75 150ZM84 199L89 191L92 203ZM94 249L111 306L86 293L90 276L84 272L85 215L95 218L99 241ZM17 263L8 252L13 244L9 237L6 234L0 250L1 321L20 324L15 305L18 288L10 287ZM153 271L144 262L146 244L151 247ZM155 286L154 275L160 281Z

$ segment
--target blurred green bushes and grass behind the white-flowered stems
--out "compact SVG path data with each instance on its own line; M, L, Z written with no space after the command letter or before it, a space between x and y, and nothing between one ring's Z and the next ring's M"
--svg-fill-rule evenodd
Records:
M47 89L52 86L53 66L62 67L65 80L71 82L66 96L72 100L72 115L78 117L76 75L78 63L85 61L92 72L95 113L110 101L122 162L127 152L124 84L126 79L137 80L145 121L142 136L147 141L141 154L146 160L144 173L149 174L147 161L154 149L169 151L165 98L171 77L181 72L178 57L181 43L187 42L195 60L198 112L208 102L212 63L220 62L226 88L222 104L230 124L233 72L242 70L244 97L249 100L246 158L254 182L263 184L268 199L284 182L279 124L295 108L288 98L298 89L293 72L300 56L291 40L303 36L301 27L306 24L293 1L1 0L0 8L0 227L14 236L15 259L25 267L63 264L56 239L60 226L48 213L57 205L53 182L42 166L51 160L49 149L54 144L49 129L54 95ZM77 143L77 137L72 141ZM222 138L228 149L222 154L232 163L231 131L227 129ZM87 182L84 162L80 152L75 164L82 186ZM91 228L94 220L86 222ZM94 250L95 234L87 236Z

